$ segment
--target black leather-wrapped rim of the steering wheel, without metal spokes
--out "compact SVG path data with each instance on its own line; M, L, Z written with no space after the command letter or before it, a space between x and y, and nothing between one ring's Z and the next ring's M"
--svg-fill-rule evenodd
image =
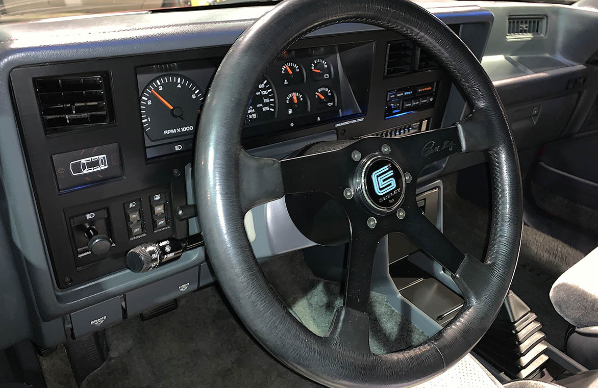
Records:
M241 146L245 109L255 85L298 38L344 22L399 32L437 60L472 108L472 114L451 127L450 133L443 132L449 134L444 141L455 144L458 152L485 151L492 179L493 217L485 261L465 255L449 265L465 296L463 308L425 343L390 355L370 352L367 330L363 330L367 316L358 309L339 308L326 337L301 325L261 272L243 226L246 210L282 197L285 185L292 185L283 178L285 165L251 157ZM434 132L426 136L435 136ZM358 141L367 147L376 141L371 139ZM413 2L283 1L246 30L222 61L206 98L196 140L196 203L212 268L249 331L295 371L330 387L411 386L440 374L466 355L496 317L521 242L517 153L504 108L478 60L453 31ZM346 149L343 146L340 148ZM446 152L449 154L448 149ZM422 152L420 164L427 162Z

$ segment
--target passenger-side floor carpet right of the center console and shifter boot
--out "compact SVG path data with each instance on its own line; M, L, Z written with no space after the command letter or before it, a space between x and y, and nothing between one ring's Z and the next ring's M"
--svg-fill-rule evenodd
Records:
M456 193L456 174L443 178L444 234L461 249L480 258L487 246L489 210ZM584 257L569 245L524 225L521 251L511 289L542 323L548 341L565 346L569 323L554 310L548 293L557 277Z

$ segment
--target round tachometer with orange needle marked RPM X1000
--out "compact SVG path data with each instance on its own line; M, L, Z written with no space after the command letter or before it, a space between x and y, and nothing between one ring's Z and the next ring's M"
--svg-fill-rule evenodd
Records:
M195 132L203 91L180 74L164 74L141 92L141 122L152 141Z

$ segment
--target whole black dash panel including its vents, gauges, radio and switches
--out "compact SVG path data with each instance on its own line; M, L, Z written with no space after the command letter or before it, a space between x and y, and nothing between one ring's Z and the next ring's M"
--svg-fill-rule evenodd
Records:
M190 199L184 171L226 51L11 72L59 288L122 270L127 251L141 243L188 235L175 216ZM243 143L254 149L330 131L347 139L429 130L440 125L449 88L429 56L394 33L304 39L256 85Z

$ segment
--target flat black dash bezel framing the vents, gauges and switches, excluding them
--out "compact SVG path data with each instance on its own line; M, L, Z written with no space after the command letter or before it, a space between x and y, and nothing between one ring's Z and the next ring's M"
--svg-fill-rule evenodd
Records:
M341 119L300 130L252 136L243 139L245 148L269 145L329 130L337 130L339 139L355 138L373 133L374 130L380 132L428 118L428 128L439 127L450 90L450 80L441 69L385 77L384 47L388 41L396 38L397 35L392 32L370 31L301 39L292 48L374 42L374 66L367 115L359 120ZM222 58L227 50L228 46L179 50L42 64L11 71L10 83L16 117L57 288L81 285L124 269L124 253L135 245L169 236L184 237L187 234L187 223L176 221L172 215L176 206L187 203L184 167L192 161L192 154L191 151L184 151L147 160L144 133L138 114L139 87L136 68L193 59ZM114 103L114 121L102 126L81 127L64 134L46 135L39 115L33 80L39 77L96 73L106 74L108 77ZM384 109L388 90L430 82L438 82L434 108L385 120ZM60 192L52 163L53 155L111 143L118 143L120 146L120 178L99 182L91 187ZM130 239L126 230L124 201L132 198L147 200L147 192L158 187L170 195L171 228L154 233L152 225L146 224L144 236ZM75 254L77 250L73 249L69 219L103 208L109 210L111 217L109 225L114 236L110 237L114 241L114 247L105 258L82 264ZM144 209L143 218L146 222L152 222L148 217L151 217L149 207Z

